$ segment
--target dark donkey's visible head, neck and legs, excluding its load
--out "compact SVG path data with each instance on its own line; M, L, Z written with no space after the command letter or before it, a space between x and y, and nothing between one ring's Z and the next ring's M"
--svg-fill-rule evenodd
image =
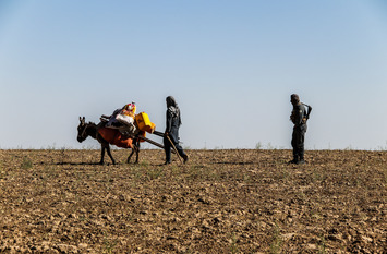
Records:
M107 142L99 133L98 129L104 128L104 123L99 123L98 125L95 124L94 122L85 122L85 117L81 118L80 117L80 125L77 126L77 141L82 143L85 141L88 136L97 140L100 143L100 148L101 148L101 154L100 154L100 165L104 165L104 157L105 157L105 150L108 152L108 155L112 161L112 164L116 164L114 158L111 155L110 152L110 145L109 142ZM136 160L135 164L138 164L138 153L140 153L140 138L133 138L132 143L132 153L129 155L126 159L126 164L130 162L132 155L136 153Z

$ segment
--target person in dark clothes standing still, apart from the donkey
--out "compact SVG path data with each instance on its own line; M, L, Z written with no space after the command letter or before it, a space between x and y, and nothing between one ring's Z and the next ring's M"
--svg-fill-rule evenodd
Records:
M305 164L304 160L304 141L306 133L306 120L312 108L309 107L306 112L304 104L300 102L300 97L297 94L290 96L290 102L293 105L293 110L290 116L290 120L293 122L293 133L291 145L293 147L293 160L290 164Z

